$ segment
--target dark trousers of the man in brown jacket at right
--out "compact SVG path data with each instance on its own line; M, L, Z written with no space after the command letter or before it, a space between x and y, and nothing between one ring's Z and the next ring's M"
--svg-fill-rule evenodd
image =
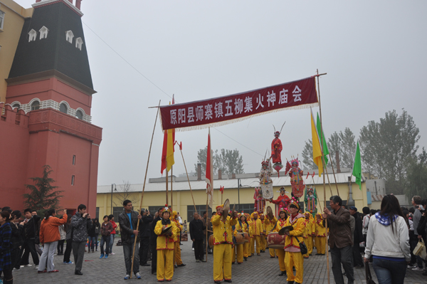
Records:
M341 265L344 268L345 275L348 278L348 283L354 283L353 271L353 253L352 246L345 246L344 248L331 248L332 257L332 273L334 273L334 280L336 284L344 284L344 277L342 276Z

